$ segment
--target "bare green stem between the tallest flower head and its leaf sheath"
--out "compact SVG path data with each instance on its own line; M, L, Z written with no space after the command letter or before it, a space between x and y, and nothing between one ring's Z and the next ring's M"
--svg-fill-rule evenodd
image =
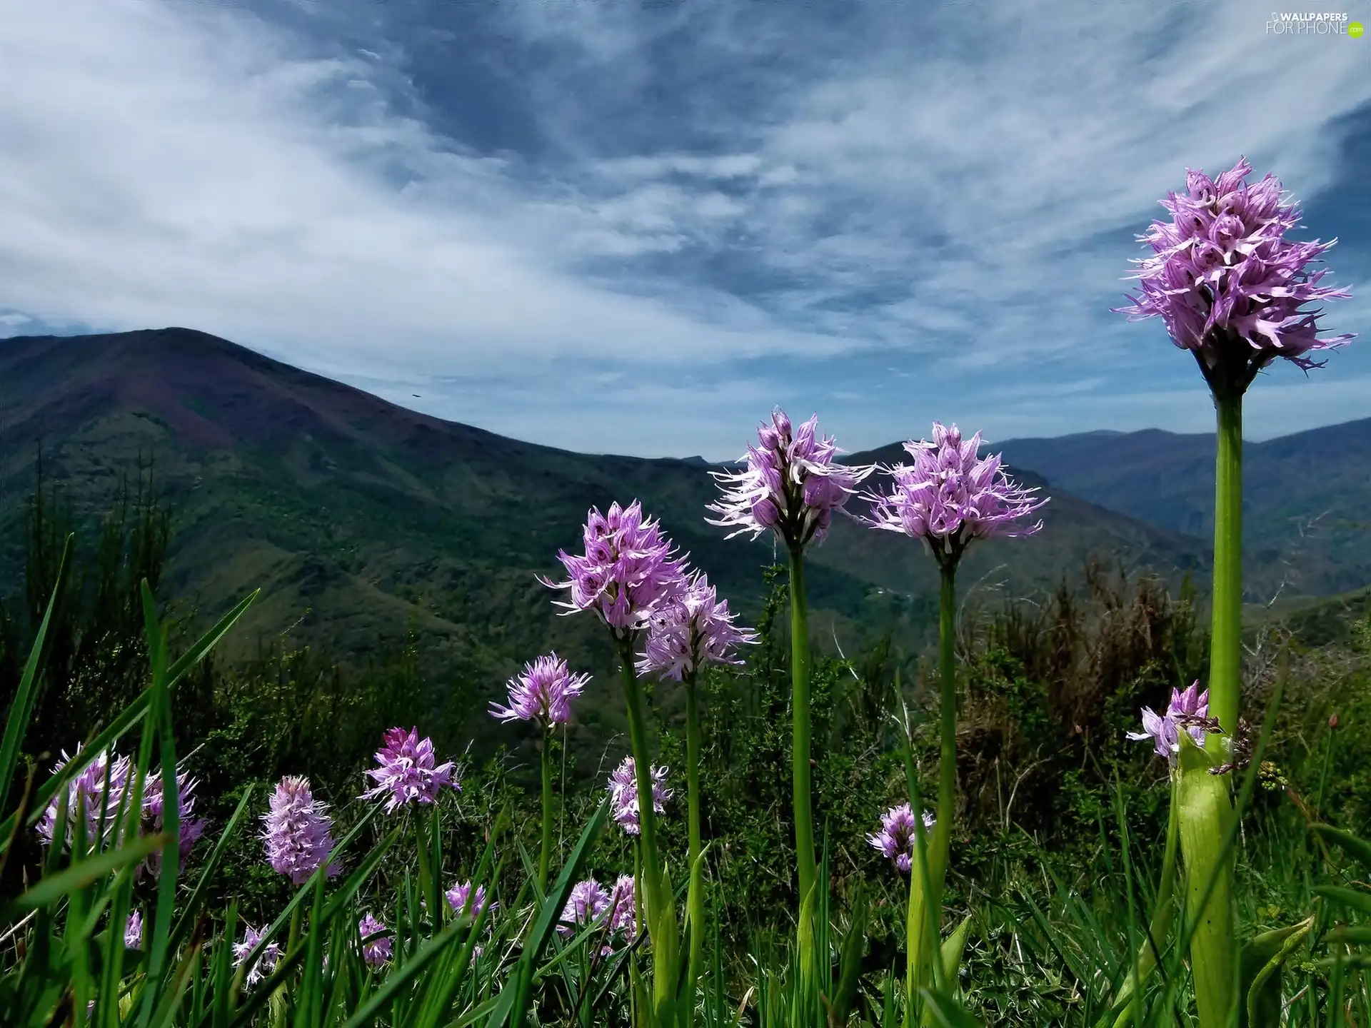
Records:
M1209 714L1231 733L1242 691L1242 396L1215 397L1219 417L1213 493L1213 622L1209 641ZM1223 757L1223 740L1208 750Z

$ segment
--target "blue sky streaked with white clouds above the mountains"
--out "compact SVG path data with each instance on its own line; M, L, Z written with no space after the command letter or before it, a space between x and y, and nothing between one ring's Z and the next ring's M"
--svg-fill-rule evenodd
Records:
M1206 430L1190 356L1109 313L1187 166L1279 175L1341 240L1328 333L1371 332L1371 37L1268 7L10 5L0 334L185 325L595 452L736 456L777 403L849 450ZM1357 340L1248 433L1368 397Z

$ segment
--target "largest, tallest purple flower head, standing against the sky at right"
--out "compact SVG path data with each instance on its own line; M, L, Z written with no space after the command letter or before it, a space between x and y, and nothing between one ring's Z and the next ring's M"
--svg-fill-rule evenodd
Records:
M1275 175L1248 184L1249 174L1246 158L1216 180L1187 170L1186 192L1161 201L1171 221L1154 221L1138 237L1152 256L1134 262L1139 292L1130 293L1132 306L1116 308L1130 321L1161 318L1172 343L1196 355L1216 395L1242 395L1276 358L1319 367L1305 355L1352 339L1320 339L1322 311L1302 310L1350 295L1319 285L1326 269L1308 270L1337 240L1286 240L1300 225L1298 206L1281 201Z

